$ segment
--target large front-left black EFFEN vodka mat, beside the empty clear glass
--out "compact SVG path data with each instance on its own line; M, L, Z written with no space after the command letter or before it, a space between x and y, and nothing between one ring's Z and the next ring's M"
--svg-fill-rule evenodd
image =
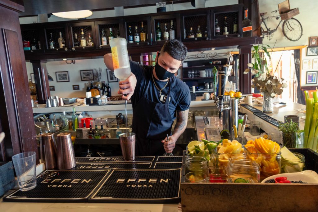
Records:
M67 170L46 179L37 177L37 187L3 198L8 202L87 202L109 170Z

